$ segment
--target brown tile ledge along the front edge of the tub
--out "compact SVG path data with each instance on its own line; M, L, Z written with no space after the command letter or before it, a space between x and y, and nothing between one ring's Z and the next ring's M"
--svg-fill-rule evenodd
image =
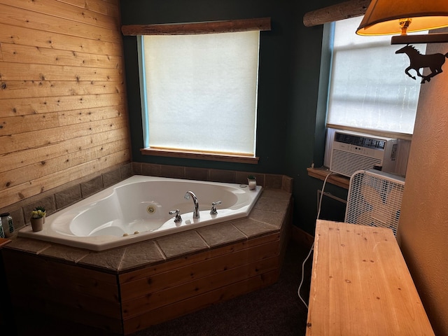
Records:
M120 248L95 252L37 239L17 237L5 246L72 265L121 274L148 265L200 253L253 237L280 232L291 202L281 189L264 189L246 218L141 241Z

